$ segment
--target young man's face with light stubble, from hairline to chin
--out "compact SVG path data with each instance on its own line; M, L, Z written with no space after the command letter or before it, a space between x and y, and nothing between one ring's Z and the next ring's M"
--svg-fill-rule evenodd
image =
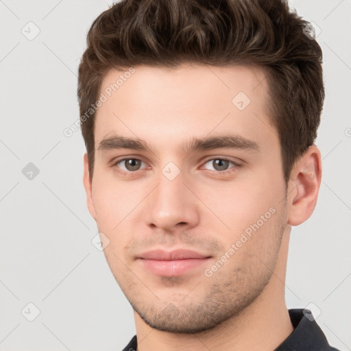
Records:
M110 71L101 93L120 75ZM286 260L280 243L289 236L289 208L265 75L184 64L168 71L136 66L123 77L97 111L87 190L90 213L110 241L106 259L149 326L213 328L250 305ZM148 148L117 148L116 136ZM232 147L191 149L211 138ZM87 179L86 165L88 189ZM162 256L145 254L178 249L199 256L158 261ZM165 262L171 258L178 260Z

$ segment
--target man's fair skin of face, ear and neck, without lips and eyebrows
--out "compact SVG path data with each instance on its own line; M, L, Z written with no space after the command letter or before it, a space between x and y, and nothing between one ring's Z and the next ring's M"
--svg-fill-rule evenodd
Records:
M135 69L97 110L93 179L84 155L84 187L90 214L110 240L108 265L134 308L138 350L274 350L293 331L285 304L289 235L315 208L319 149L306 150L286 188L261 69ZM101 92L121 74L109 71ZM239 92L251 100L242 111L232 104ZM152 150L99 149L114 134L143 139ZM222 147L189 154L181 148L191 138L224 134L254 141L259 152ZM117 163L123 157L143 162L130 171ZM241 166L228 162L218 170L214 161L223 157ZM162 173L169 162L180 171L173 180ZM206 276L269 208L275 213ZM176 248L211 256L210 262L165 277L136 259Z

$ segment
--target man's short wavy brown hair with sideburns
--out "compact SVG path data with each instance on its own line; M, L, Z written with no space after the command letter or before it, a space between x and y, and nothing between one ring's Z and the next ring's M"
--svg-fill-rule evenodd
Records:
M95 111L110 69L184 62L265 70L285 182L317 137L324 103L322 49L283 0L122 0L91 25L78 76L82 135L93 178ZM309 35L307 35L309 33ZM84 117L85 114L85 118Z

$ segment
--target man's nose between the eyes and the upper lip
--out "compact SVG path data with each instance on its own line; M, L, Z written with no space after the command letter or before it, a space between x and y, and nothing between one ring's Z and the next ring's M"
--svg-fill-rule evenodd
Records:
M182 173L173 180L160 174L158 186L148 196L145 216L148 226L162 228L167 232L197 226L199 202L189 191L189 182L186 185L183 182Z

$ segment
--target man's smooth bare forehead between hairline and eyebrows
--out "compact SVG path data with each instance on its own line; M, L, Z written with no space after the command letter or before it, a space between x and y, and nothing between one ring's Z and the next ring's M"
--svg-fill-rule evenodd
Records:
M254 66L111 69L101 83L102 95L95 145L112 134L160 145L230 130L262 141L276 134L267 114L265 71Z

